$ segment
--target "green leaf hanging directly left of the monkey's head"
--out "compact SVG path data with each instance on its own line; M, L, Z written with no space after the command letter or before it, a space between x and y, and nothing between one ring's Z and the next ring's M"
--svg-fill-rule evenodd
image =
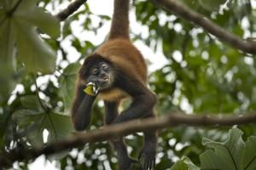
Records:
M68 110L73 100L74 85L77 79L77 74L80 68L79 63L73 63L64 69L63 74L59 79L60 94L64 101L65 110Z

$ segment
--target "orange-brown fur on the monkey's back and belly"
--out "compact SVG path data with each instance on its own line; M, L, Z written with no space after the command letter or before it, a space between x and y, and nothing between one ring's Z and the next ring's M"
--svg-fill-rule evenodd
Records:
M116 39L105 42L96 49L96 54L108 59L113 65L118 65L125 72L129 72L131 77L136 77L139 82L147 82L147 65L143 55L126 39ZM103 92L100 97L104 100L119 100L128 97L124 91L119 88L111 88Z

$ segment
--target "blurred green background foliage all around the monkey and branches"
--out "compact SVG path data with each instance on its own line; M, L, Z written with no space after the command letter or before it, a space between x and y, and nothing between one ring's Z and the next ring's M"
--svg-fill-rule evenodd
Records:
M47 10L50 7L56 11L64 2L0 0L0 154L4 150L42 146L73 135L68 111L76 72L84 55L100 44L80 37L73 25L79 23L83 33L97 37L110 18L93 14L85 3L60 26ZM255 35L256 9L251 1L183 0L182 3L238 37L246 39ZM255 111L253 55L220 42L201 27L165 12L150 1L134 1L131 11L135 11L137 23L148 30L147 36L142 31L132 31L132 40L144 42L153 49L155 57L163 54L166 59L166 65L151 72L149 78L150 88L159 99L159 116L177 109L195 114ZM65 44L71 45L67 48ZM73 54L79 56L75 59ZM93 113L90 129L102 126L102 101L94 105ZM255 136L255 126L239 128L244 132L244 139ZM228 136L230 139L224 143L213 142L224 141ZM203 137L211 140L204 139L201 144ZM143 144L141 134L129 135L125 140L131 156L137 157ZM230 143L233 140L236 143ZM254 143L254 137L244 142L241 131L232 129L229 134L227 127L168 128L160 132L156 169L170 169L177 160L180 161L171 169L200 166L228 169L216 167L215 161L221 158L216 157L216 153L225 156L222 166L230 165L232 169L234 164L229 160L234 158L241 159L239 168L243 169L247 161L255 157ZM238 150L225 155L224 147L233 148L231 144L238 144L243 150L241 157L236 156ZM206 150L206 146L212 150ZM85 144L83 148L55 156L57 158L60 169L70 166L117 169L117 160L108 142ZM20 162L18 166L26 169L29 163ZM255 168L254 164L251 166L247 168Z

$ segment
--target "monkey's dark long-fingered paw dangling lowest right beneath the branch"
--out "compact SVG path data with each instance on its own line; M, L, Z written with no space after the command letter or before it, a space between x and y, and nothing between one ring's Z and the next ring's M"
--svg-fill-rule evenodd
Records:
M155 144L147 142L139 154L139 163L143 170L154 170L155 167Z

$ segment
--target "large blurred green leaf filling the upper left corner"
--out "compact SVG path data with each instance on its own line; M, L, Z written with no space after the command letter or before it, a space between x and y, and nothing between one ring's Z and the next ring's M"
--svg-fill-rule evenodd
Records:
M58 37L60 23L50 14L44 13L42 8L36 6L36 3L37 1L33 0L5 1L3 3L0 34L5 37L14 37L15 41L7 43L8 48L0 48L0 54L3 54L6 59L12 59L12 54L4 52L10 49L12 53L15 53L14 44L16 43L18 58L25 64L28 71L50 73L55 69L56 54L38 37L37 29L39 28L52 37ZM15 8L16 5L17 8ZM15 10L9 14L12 9Z

